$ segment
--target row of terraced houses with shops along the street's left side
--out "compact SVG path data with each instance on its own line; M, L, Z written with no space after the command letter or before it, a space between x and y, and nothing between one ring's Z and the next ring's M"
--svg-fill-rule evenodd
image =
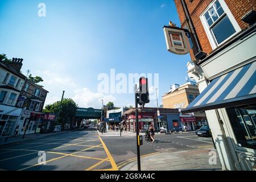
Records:
M23 59L0 62L0 134L1 137L35 133L42 118L48 91L28 80L20 69ZM31 115L35 115L30 121ZM29 122L29 123L28 123Z

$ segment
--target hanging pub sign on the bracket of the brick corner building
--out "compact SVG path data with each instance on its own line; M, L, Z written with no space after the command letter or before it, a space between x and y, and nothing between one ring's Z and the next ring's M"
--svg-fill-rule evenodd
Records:
M169 26L164 26L167 50L177 55L185 55L189 52L186 30L175 27L171 21Z

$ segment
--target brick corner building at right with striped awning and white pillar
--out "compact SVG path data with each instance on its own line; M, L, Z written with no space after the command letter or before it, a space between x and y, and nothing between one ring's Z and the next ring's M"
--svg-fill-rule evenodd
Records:
M174 0L193 37L188 75L200 95L184 112L207 115L223 170L255 170L255 1Z

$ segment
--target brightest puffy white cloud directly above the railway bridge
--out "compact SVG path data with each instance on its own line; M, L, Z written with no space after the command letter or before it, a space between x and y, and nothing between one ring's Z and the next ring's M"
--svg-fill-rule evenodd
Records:
M102 101L104 105L109 101L114 102L116 98L112 95L104 95L101 93L91 92L88 88L74 90L75 96L72 99L79 105L79 107L93 107L100 109L102 107Z

